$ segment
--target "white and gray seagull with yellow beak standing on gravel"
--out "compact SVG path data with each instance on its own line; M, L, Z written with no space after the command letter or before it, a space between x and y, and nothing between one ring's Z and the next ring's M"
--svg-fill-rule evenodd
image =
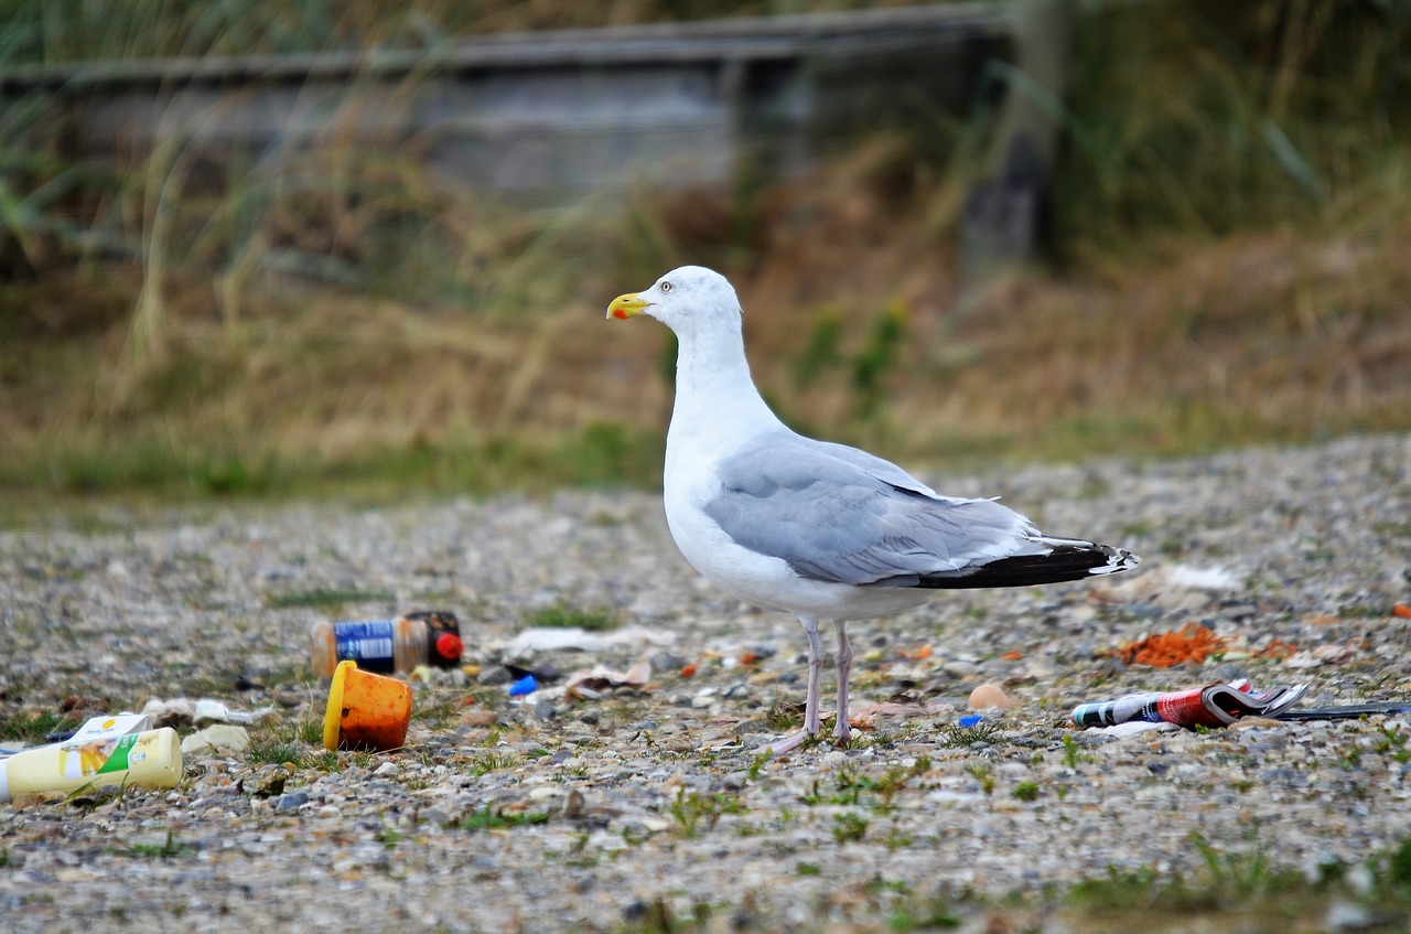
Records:
M742 312L725 277L686 265L608 317L655 317L677 337L663 499L676 546L706 578L756 607L799 617L809 638L803 731L820 732L820 624L838 648L835 739L851 736L847 624L902 612L937 590L1103 577L1137 566L1126 549L1041 533L995 499L943 497L904 470L789 429L749 375Z

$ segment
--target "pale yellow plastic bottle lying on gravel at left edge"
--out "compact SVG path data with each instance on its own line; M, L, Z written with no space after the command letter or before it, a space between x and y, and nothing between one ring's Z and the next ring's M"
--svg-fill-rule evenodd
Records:
M181 782L181 741L171 727L102 735L24 749L0 759L0 801L16 794L133 784L172 789Z

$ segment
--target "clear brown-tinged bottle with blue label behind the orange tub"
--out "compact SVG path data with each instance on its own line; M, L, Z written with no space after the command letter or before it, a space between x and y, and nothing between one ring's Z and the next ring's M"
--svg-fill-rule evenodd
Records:
M450 669L460 665L460 624L442 609L395 619L320 619L309 628L315 677L333 677L339 662L380 674L405 674L418 665Z

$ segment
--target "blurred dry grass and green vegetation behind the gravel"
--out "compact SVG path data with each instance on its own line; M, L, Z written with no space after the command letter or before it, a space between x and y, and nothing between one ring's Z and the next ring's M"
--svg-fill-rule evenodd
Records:
M0 72L847 6L0 0ZM217 185L179 145L87 165L32 95L0 113L0 487L653 484L670 347L602 308L680 262L735 281L787 420L914 466L1411 429L1411 4L1081 8L1051 250L983 279L983 111L763 190L531 209L336 128Z

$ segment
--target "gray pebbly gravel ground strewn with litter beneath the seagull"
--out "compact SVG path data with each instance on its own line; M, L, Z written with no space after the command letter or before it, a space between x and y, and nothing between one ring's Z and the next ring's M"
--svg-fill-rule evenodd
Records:
M803 698L803 633L700 580L648 494L103 507L0 533L6 721L172 697L277 710L250 751L188 755L176 790L0 804L0 927L849 931L944 909L962 930L1067 931L1092 918L1054 893L1109 866L1197 878L1259 849L1270 872L1356 882L1411 834L1405 718L1064 725L1085 700L1240 676L1307 681L1305 705L1411 697L1411 621L1391 614L1411 602L1411 436L933 480L1126 545L1143 570L855 624L851 748L769 762L759 744ZM1229 581L1182 587L1181 567ZM299 605L334 591L354 593ZM467 670L413 680L404 751L319 755L308 626L430 607L459 615ZM546 608L619 625L523 665L646 659L648 690L511 700L501 663ZM1164 670L1112 656L1189 622L1228 650ZM1017 705L962 734L985 681ZM1376 920L1353 902L1318 924Z

